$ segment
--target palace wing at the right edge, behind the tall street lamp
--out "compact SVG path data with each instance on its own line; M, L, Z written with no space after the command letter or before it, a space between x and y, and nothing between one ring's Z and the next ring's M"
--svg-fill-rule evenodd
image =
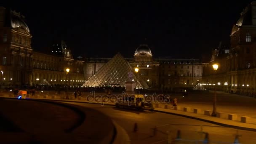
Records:
M248 5L234 24L230 34L229 53L212 52L212 59L203 67L203 83L219 83L220 91L255 96L256 88L256 2ZM219 63L214 72L213 63ZM210 86L213 88L212 86Z

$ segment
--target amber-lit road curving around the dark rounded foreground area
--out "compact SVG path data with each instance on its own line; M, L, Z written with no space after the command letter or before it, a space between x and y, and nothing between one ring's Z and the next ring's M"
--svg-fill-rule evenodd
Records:
M105 115L112 118L117 124L121 125L130 136L132 144L148 143L152 144L157 141L167 139L167 131L171 132L173 138L176 137L177 130L181 131L181 139L203 139L204 134L198 133L201 131L201 126L189 126L189 125L209 125L203 126L203 131L209 133L209 139L214 141L224 141L228 143L234 142L237 133L236 129L216 127L211 123L202 122L199 120L189 119L185 117L163 114L160 112L138 112L133 109L122 109L115 108L113 106L101 106L99 104L85 104L75 102L65 102L69 104L76 104L83 107L90 107L96 109ZM134 124L137 123L138 131L133 132ZM181 124L181 125L168 125L157 128L157 133L152 136L152 129L155 126L167 125L167 124ZM183 126L182 126L183 125ZM210 127L215 126L215 127ZM243 144L255 144L256 143L256 132L242 131L239 130L238 134L240 142ZM166 143L162 142L163 144Z

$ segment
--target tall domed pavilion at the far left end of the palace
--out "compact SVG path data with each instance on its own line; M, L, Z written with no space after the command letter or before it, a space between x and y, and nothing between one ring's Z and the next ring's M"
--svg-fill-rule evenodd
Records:
M25 17L0 7L0 67L3 85L29 84L32 73L32 35Z

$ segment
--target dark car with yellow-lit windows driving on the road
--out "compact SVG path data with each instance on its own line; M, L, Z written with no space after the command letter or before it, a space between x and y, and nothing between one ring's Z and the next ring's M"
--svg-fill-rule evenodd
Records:
M140 111L153 111L155 109L151 102L145 102L144 96L142 94L123 96L122 99L119 98L117 100L115 106L138 109Z

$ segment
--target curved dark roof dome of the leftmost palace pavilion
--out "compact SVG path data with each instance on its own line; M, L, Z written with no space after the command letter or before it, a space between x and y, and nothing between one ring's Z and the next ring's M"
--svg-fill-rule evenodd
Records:
M23 20L24 16L21 16L20 13L17 13L15 11L11 12L11 27L16 28L23 26L29 32L29 27Z

